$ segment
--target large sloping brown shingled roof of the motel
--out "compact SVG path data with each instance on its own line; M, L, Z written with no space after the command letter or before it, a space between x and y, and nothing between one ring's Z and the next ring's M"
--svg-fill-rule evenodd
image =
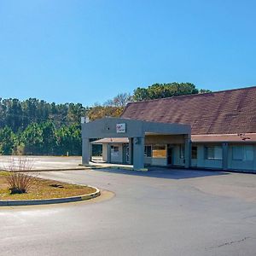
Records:
M191 125L192 134L256 132L256 86L128 103L122 118Z

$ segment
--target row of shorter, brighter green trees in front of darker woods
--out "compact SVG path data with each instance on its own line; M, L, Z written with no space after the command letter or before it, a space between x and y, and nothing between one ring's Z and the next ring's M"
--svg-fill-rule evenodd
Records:
M80 155L80 125L56 128L51 121L32 123L15 133L8 126L0 129L0 154Z

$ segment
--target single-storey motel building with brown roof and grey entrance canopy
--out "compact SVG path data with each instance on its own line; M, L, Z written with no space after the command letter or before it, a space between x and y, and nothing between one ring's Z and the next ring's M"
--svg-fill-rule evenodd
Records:
M82 124L83 164L256 172L256 86L128 103L119 118Z

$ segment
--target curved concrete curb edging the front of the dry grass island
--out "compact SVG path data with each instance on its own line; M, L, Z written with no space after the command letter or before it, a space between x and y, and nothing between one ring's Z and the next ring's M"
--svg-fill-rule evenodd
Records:
M48 205L48 204L59 204L73 201L84 201L92 198L96 198L101 195L100 189L96 187L88 186L96 189L96 192L87 195L76 195L62 198L51 198L51 199L40 199L40 200L0 200L0 207L14 207L14 206L34 206L34 205Z

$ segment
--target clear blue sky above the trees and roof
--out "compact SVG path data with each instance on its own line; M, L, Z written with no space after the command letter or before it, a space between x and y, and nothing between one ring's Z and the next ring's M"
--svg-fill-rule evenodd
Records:
M105 102L154 83L256 85L256 1L0 0L0 96Z

